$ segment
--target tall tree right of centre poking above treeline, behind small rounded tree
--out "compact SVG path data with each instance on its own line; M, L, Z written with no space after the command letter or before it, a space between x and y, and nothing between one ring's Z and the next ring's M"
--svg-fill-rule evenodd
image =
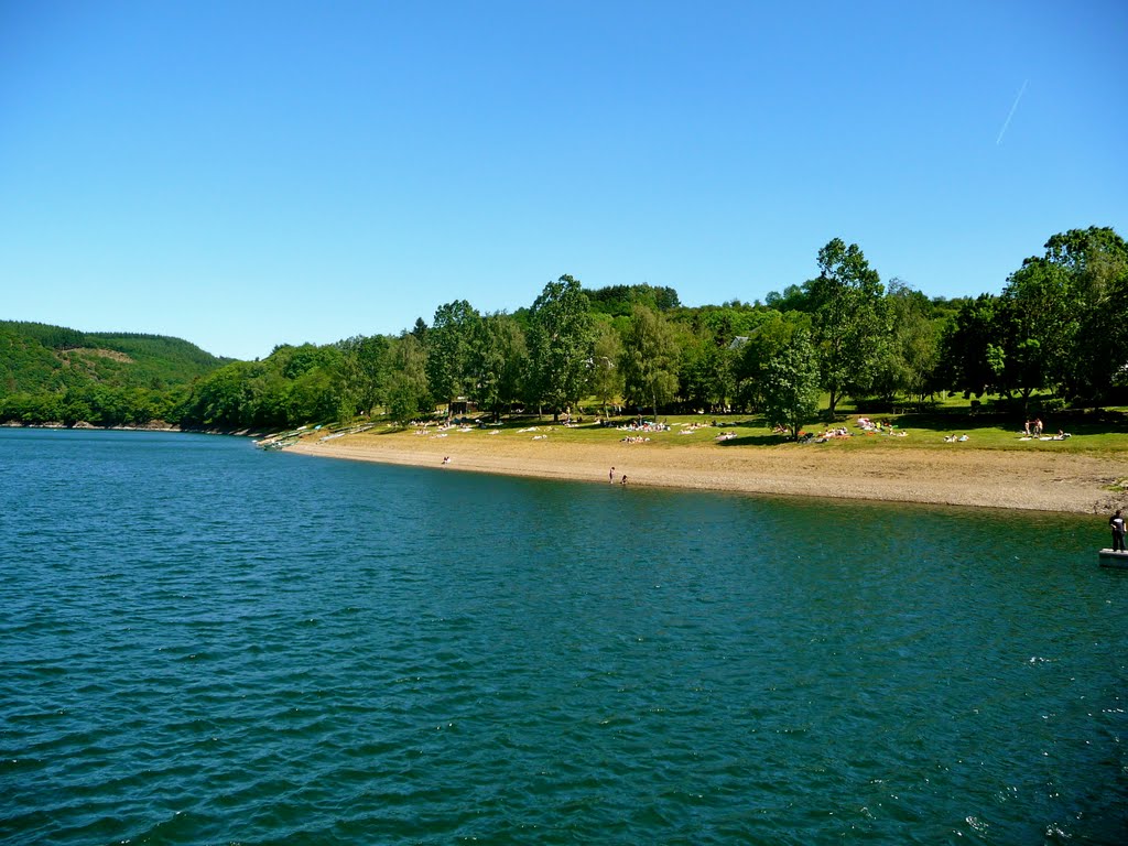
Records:
M819 250L819 275L808 282L808 294L831 416L845 394L865 394L873 385L889 332L883 293L856 244L835 238Z

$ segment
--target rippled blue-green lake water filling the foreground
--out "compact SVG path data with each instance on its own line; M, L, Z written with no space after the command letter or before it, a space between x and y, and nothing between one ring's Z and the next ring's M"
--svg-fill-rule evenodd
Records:
M1122 844L1105 519L0 430L0 843Z

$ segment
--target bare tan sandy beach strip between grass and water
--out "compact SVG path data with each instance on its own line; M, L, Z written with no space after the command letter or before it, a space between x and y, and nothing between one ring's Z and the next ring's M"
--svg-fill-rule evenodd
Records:
M329 441L307 437L288 451L605 485L615 467L616 482L625 473L640 486L1086 514L1128 509L1128 491L1118 487L1128 478L1128 460L1118 455L899 446L565 443L511 431L444 439L372 431Z

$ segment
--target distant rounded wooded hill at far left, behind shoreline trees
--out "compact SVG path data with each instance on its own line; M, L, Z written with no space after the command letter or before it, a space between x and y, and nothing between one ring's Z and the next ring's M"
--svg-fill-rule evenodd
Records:
M229 361L164 335L0 320L0 397L64 394L91 386L168 390Z

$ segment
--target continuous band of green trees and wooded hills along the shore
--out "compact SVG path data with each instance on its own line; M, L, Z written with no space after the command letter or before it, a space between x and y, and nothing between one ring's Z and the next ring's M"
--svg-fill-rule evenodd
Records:
M466 405L500 417L579 408L738 411L794 425L845 399L924 406L948 393L1026 411L1116 404L1128 391L1128 245L1055 235L1002 293L945 300L834 239L818 275L765 301L685 307L671 288L584 290L567 275L513 314L440 305L398 335L279 346L222 361L175 338L0 323L0 421L161 421L271 431Z

